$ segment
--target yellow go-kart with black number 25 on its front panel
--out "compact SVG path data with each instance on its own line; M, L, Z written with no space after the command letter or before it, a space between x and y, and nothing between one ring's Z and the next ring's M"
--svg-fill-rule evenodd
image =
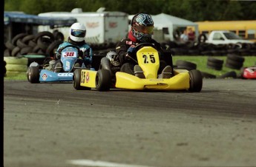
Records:
M141 67L144 78L139 78L125 72L116 72L111 75L107 69L76 69L73 73L73 87L75 89L97 89L108 91L110 89L133 90L187 90L200 92L203 86L203 77L197 69L174 69L170 78L161 78L158 74L160 58L153 44L143 43L135 47L137 51L137 64ZM172 58L169 56L169 58ZM172 62L172 60L171 60Z

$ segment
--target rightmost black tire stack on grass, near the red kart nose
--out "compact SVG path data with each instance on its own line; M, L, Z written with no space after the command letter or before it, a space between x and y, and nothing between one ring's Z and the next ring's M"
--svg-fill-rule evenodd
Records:
M228 54L225 66L231 69L240 69L243 67L244 59L241 55Z

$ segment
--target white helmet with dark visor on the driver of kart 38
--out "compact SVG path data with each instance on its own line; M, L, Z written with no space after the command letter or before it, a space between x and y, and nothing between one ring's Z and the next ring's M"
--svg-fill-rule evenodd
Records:
M79 42L85 40L86 28L82 23L74 23L70 27L69 37L71 40Z

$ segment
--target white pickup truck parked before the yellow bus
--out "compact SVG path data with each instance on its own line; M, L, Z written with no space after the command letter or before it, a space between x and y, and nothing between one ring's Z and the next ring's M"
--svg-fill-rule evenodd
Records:
M209 44L254 44L253 41L244 40L240 36L230 31L211 31L208 37L204 36L205 42ZM202 40L202 38L200 39Z

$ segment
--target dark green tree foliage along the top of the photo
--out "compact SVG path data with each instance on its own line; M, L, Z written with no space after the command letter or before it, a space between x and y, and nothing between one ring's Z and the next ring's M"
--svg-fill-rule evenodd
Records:
M5 0L4 10L39 14L53 11L70 12L82 8L93 12L105 7L108 11L128 14L140 12L152 15L166 13L190 21L255 20L255 1L230 0Z

